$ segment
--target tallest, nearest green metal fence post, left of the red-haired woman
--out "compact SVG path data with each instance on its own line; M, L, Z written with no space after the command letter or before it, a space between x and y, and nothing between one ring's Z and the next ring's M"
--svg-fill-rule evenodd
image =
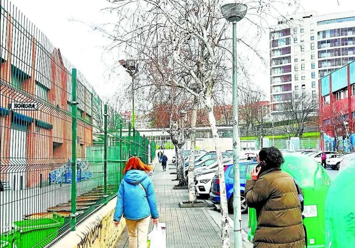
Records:
M72 114L72 142L71 142L71 230L75 231L76 228L76 143L77 143L77 121L76 121L76 112L77 112L77 104L76 101L76 69L73 68L71 71L71 114Z

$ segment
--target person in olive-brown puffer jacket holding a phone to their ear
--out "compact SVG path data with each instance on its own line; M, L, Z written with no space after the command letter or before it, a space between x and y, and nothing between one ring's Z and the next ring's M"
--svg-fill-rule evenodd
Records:
M293 177L280 169L282 153L263 148L258 162L245 187L246 202L257 215L254 248L304 248L301 203Z

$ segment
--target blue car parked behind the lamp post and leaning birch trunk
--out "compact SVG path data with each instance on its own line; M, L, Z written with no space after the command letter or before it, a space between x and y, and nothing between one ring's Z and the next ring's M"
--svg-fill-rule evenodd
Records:
M244 191L245 191L245 183L246 183L246 174L251 171L251 169L257 165L256 162L242 162L239 164L240 167L240 200L241 200L241 211L242 214L246 213L248 210ZM227 199L228 199L228 209L230 212L233 212L233 164L227 165L224 167L224 177L225 177L225 185L227 191ZM215 203L220 203L220 192L219 192L219 179L218 174L212 179L211 193L209 193L209 199Z

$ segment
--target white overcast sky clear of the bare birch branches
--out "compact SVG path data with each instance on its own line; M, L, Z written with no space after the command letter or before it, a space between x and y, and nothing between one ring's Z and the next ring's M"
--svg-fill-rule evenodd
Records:
M317 11L319 15L355 10L354 0L301 0L302 8L297 12ZM338 5L339 2L339 5ZM66 57L102 97L110 97L119 92L120 83L129 80L123 69L110 73L113 61L124 58L124 53L110 53L104 47L109 41L99 32L84 23L104 24L115 21L115 15L102 11L109 3L105 0L12 0L31 22L49 38L55 47L59 47ZM94 4L93 4L94 3ZM285 13L286 15L286 13ZM266 60L269 56L268 35L264 35L262 54ZM270 92L268 68L260 69L260 60L251 55L257 65L251 66L251 79ZM111 75L109 77L109 75Z

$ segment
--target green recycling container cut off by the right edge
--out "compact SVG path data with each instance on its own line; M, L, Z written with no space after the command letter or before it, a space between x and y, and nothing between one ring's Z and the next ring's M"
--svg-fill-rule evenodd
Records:
M355 162L339 171L326 199L326 248L355 247Z

